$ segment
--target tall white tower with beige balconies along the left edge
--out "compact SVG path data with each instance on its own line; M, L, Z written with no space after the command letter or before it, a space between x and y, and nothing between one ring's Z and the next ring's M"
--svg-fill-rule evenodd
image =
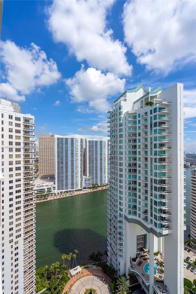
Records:
M35 292L34 116L0 98L2 294Z

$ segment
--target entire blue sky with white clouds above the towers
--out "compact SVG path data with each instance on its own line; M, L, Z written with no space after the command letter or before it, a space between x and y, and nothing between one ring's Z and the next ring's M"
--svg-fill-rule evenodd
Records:
M196 151L195 1L6 1L1 96L39 133L107 135L126 89L184 84L186 151Z

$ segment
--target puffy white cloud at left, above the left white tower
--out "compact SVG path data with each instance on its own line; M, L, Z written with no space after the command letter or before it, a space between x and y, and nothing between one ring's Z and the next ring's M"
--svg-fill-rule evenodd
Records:
M1 42L1 61L9 85L22 95L36 88L40 92L40 87L52 85L61 77L56 62L47 60L46 53L34 43L23 48L9 40Z

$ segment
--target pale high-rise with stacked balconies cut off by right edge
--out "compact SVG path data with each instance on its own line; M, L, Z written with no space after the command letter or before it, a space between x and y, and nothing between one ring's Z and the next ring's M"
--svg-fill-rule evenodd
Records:
M196 169L191 171L190 179L190 238L196 239Z

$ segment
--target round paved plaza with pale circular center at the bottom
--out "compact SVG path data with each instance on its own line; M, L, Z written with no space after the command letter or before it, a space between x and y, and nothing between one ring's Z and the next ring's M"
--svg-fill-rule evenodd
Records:
M103 277L107 282L104 284L100 281L100 277ZM104 274L100 267L97 269L89 267L87 269L82 269L81 274L77 274L75 277L70 278L62 293L84 294L86 289L92 288L96 290L97 294L111 294L110 282L111 279Z

